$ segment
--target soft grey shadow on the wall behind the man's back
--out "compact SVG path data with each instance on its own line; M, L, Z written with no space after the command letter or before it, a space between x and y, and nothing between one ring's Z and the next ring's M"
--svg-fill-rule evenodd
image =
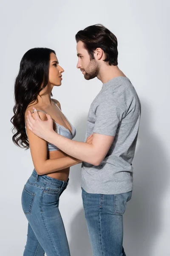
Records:
M142 102L139 148L133 161L133 195L124 215L127 256L155 255L153 247L161 230L161 202L170 178L164 145L152 131L150 116L149 106Z

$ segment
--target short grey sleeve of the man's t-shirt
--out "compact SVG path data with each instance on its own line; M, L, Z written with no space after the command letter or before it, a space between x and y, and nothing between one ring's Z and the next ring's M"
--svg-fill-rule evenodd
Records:
M94 133L115 136L119 123L122 120L125 108L122 101L112 94L95 109L96 121Z

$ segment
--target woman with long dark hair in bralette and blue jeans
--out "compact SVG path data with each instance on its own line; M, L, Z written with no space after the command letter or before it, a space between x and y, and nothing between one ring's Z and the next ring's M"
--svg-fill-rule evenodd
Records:
M59 196L68 185L69 167L81 161L34 135L26 120L28 110L35 107L42 120L47 120L46 113L52 116L57 133L74 138L76 129L62 113L59 102L51 99L53 87L61 85L63 72L53 50L34 48L23 56L15 81L13 142L26 149L30 147L34 163L22 193L22 207L28 219L24 256L70 256L58 209Z

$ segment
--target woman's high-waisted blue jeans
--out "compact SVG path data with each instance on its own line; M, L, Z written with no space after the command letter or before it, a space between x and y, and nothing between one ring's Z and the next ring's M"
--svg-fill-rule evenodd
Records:
M68 181L34 170L24 186L22 207L28 220L28 235L23 256L70 256L67 236L59 212L59 197Z

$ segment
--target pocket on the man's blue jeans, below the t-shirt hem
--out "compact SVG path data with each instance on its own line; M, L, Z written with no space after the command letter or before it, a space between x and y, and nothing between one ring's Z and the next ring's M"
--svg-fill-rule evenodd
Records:
M122 194L114 195L114 213L123 215L126 210L126 203L130 201L132 191Z

